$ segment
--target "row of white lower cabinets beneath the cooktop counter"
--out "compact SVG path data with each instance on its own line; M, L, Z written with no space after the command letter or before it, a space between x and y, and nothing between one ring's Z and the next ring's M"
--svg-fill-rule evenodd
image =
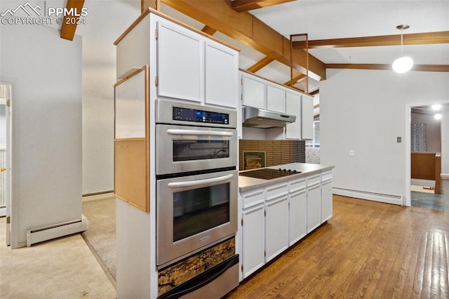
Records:
M332 216L332 171L241 193L241 279Z

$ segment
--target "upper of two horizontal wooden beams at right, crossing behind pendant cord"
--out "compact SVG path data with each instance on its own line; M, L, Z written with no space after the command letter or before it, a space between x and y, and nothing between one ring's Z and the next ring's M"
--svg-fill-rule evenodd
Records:
M403 34L404 45L448 44L449 31ZM294 48L304 48L304 42L296 41ZM347 39L317 39L309 41L309 48L349 48L373 46L400 46L401 34L351 37Z

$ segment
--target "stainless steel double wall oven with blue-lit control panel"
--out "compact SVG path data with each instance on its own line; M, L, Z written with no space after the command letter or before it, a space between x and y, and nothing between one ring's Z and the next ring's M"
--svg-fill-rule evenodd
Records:
M237 231L236 111L156 100L156 264Z

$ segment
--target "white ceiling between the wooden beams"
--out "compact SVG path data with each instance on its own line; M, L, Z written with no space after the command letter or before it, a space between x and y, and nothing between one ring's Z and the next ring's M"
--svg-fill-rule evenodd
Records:
M161 11L196 29L204 26L165 5ZM400 34L396 29L400 24L410 26L404 34L449 31L449 0L295 0L249 13L287 39L290 34L303 33L308 34L309 40ZM214 36L241 49L242 69L264 58L262 53L220 32ZM389 65L401 55L401 46L320 48L310 49L309 53L324 63ZM449 65L449 44L404 46L403 53L412 57L415 65ZM289 67L280 62L272 62L256 74L281 84L290 79ZM309 80L309 84L309 91L319 86L314 80Z

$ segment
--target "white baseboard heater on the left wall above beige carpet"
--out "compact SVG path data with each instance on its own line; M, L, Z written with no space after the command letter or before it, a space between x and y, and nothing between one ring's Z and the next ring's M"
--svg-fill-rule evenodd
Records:
M89 222L84 215L81 219L62 222L57 225L49 225L46 227L39 227L33 230L27 230L27 247L39 242L64 237L69 234L76 234L77 232L84 232L89 227Z

